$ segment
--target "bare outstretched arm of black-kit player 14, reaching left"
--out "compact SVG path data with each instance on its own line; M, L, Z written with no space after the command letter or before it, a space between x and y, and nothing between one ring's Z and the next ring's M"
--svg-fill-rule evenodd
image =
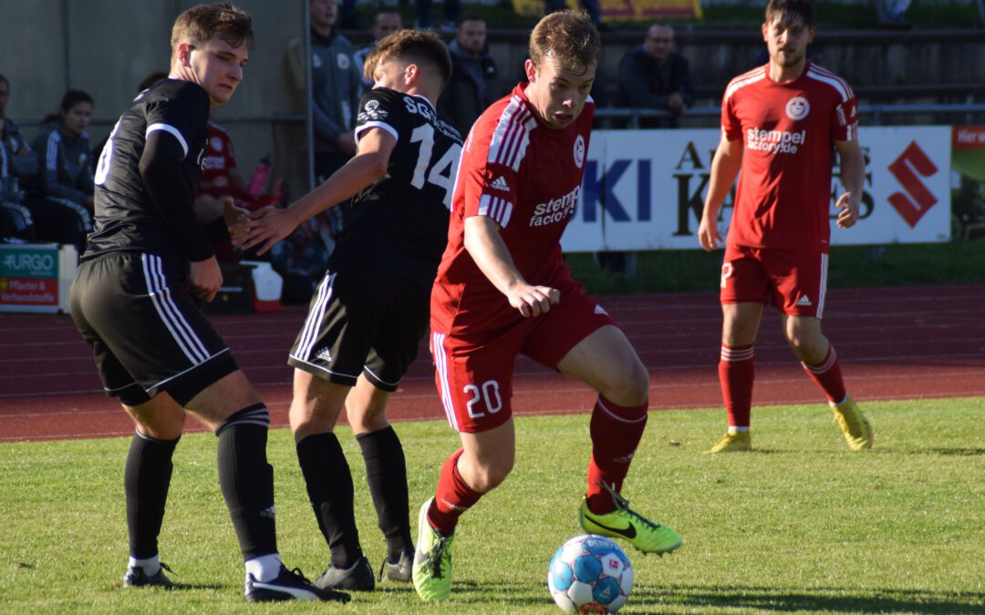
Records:
M366 130L361 134L359 152L325 183L287 209L265 207L251 213L248 221L231 228L233 245L241 245L244 250L260 246L257 254L264 254L304 220L352 198L382 177L396 145L397 140L385 130Z

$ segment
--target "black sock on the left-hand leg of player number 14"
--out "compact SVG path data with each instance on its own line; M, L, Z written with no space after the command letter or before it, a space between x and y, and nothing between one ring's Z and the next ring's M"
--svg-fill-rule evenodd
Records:
M297 443L297 461L318 528L332 551L336 568L349 568L362 556L353 510L353 476L332 432L313 434Z

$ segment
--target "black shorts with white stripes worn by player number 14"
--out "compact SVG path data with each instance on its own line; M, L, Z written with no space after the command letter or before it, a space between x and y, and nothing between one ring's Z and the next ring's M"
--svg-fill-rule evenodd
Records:
M329 272L318 284L288 363L356 386L365 374L393 392L427 333L430 288L370 271Z

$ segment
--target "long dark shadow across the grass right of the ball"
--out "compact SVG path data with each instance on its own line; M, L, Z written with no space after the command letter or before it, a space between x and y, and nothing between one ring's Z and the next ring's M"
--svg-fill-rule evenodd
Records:
M672 606L760 609L764 611L855 611L959 613L985 606L985 592L947 593L929 589L855 590L821 587L784 591L774 587L669 585L635 587L626 602L631 611L653 612Z

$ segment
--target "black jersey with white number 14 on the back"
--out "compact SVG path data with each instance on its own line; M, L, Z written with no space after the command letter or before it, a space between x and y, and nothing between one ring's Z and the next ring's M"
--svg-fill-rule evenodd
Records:
M357 137L370 128L397 145L386 173L349 206L329 270L388 272L430 288L448 241L462 137L427 98L382 88L360 102Z

